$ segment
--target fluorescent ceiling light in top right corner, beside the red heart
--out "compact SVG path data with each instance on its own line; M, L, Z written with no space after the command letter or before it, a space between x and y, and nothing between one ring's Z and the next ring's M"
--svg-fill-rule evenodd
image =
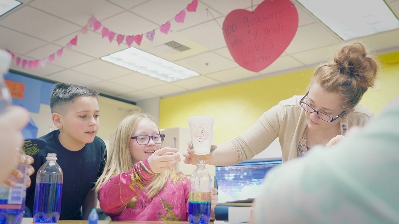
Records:
M384 0L297 0L344 40L399 28Z

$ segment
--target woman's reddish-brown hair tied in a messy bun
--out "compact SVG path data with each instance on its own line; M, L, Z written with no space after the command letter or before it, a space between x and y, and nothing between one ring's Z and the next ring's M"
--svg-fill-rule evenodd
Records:
M324 91L340 94L345 111L353 109L377 78L376 59L367 55L361 43L343 46L334 59L315 69L308 91L319 84Z

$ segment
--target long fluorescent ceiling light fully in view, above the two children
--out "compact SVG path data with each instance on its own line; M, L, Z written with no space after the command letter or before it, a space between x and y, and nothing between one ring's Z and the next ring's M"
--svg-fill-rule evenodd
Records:
M198 72L134 47L115 52L101 59L167 82L200 75Z

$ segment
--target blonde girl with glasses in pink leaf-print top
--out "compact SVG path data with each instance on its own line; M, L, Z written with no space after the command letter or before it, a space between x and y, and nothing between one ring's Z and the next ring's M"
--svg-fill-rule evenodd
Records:
M190 182L171 169L181 158L177 149L161 148L164 137L141 111L119 124L96 183L100 207L112 220L188 220ZM217 199L213 188L212 214Z

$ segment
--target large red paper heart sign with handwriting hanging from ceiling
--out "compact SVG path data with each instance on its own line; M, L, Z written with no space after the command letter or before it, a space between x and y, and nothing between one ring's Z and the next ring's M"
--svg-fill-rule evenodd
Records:
M252 12L237 9L223 22L223 35L233 59L259 72L288 47L298 29L298 11L290 0L265 0Z

